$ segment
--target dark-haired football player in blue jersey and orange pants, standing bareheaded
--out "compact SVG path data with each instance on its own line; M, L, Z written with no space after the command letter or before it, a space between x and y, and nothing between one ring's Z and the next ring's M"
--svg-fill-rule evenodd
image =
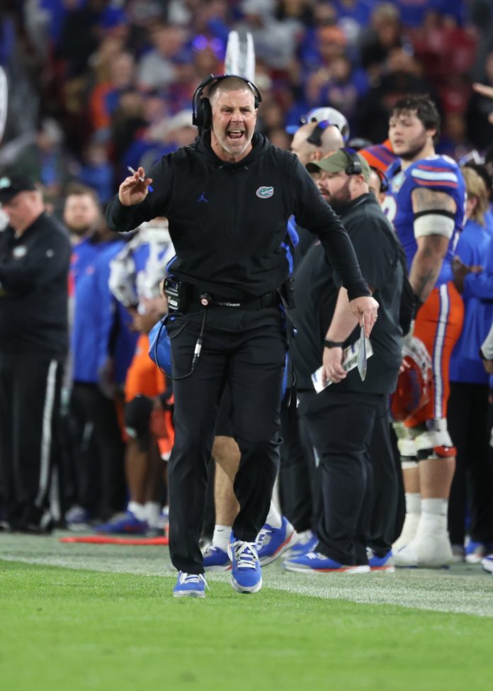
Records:
M433 369L429 402L398 429L407 516L395 544L398 566L441 567L452 561L447 532L455 449L446 423L448 364L463 325L463 302L451 262L463 227L465 184L458 165L438 156L440 117L427 96L397 101L389 139L397 159L387 170L386 211L402 242L416 299L414 337Z

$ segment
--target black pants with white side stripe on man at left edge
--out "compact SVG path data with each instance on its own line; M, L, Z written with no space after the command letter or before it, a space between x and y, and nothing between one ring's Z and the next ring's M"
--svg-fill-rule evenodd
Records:
M0 354L0 490L14 527L39 524L50 507L62 370L47 356Z

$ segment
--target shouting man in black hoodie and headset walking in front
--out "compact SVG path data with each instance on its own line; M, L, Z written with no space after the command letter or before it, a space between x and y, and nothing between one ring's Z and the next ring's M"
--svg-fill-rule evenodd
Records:
M201 98L206 86L208 98ZM198 541L217 403L227 380L242 453L234 481L240 511L230 544L232 585L239 592L261 588L254 541L277 471L286 349L278 291L288 279L281 243L291 214L319 235L354 313L359 319L364 314L368 327L378 308L344 227L310 176L295 156L254 133L260 100L245 79L205 80L193 99L196 121L203 125L198 140L164 156L149 177L140 168L125 179L106 215L113 230L131 230L164 215L176 250L169 271L179 281L180 306L171 309L168 330L176 378L170 551L180 572L178 596L204 595Z

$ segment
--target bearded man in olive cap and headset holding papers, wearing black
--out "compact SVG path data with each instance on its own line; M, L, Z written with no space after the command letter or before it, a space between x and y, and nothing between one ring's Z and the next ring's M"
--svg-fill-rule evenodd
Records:
M362 381L357 369L346 374L341 366L343 348L359 336L346 291L320 246L305 255L296 274L298 334L291 354L300 414L319 455L323 515L318 546L284 565L290 571L323 573L363 573L372 566L392 570L397 474L387 408L402 359L399 242L369 192L370 168L361 155L341 149L307 169L319 175L322 195L340 214L380 307L370 338L373 356ZM331 386L314 393L311 374L322 364L322 352ZM378 457L370 463L368 446L375 434ZM367 547L374 553L370 563Z

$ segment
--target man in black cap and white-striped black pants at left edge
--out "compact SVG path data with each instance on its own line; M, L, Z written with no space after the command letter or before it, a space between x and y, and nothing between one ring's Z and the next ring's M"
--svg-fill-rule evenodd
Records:
M0 487L8 526L49 532L62 366L68 234L23 176L0 177Z

